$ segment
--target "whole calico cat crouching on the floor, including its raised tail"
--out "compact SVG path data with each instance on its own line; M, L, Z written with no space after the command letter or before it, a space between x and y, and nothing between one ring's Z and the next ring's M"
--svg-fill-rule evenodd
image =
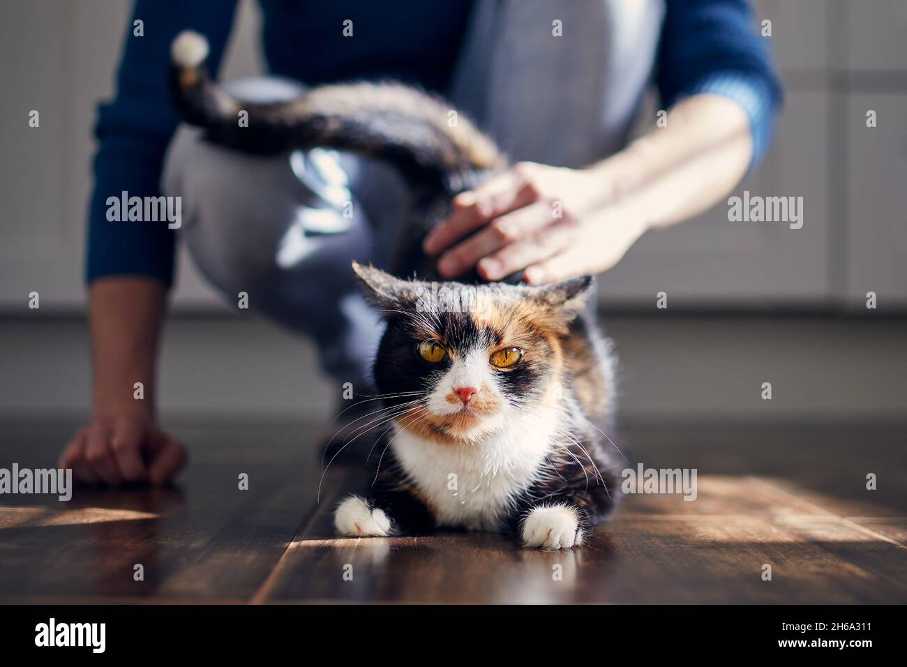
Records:
M454 194L506 161L450 107L393 83L315 88L286 103L243 103L210 81L207 44L172 48L174 99L211 142L248 152L333 147L395 164L414 192L413 231L392 272L354 263L386 329L374 364L390 423L367 493L336 508L341 535L419 535L437 526L504 532L544 549L582 544L619 494L614 358L587 301L589 277L531 287L436 282L421 240ZM239 110L249 127L239 127ZM403 280L396 276L414 276ZM370 421L367 421L369 420Z

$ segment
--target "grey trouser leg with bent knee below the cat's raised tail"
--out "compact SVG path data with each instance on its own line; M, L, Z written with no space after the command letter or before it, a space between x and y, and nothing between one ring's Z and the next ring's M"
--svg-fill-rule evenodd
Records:
M302 90L276 78L227 88L255 101ZM393 170L323 150L250 156L183 126L161 186L182 198L180 238L229 303L247 292L250 309L315 341L327 373L372 393L383 326L358 294L350 262L380 267L391 256L406 194Z

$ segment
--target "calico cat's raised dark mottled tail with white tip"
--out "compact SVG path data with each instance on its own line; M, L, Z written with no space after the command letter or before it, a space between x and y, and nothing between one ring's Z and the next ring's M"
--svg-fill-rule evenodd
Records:
M501 169L502 153L473 123L431 95L399 83L347 83L294 100L251 103L211 81L208 40L181 33L171 46L171 88L183 118L212 142L271 153L316 146L392 162L414 181L469 187L470 174ZM243 113L245 112L245 113Z

